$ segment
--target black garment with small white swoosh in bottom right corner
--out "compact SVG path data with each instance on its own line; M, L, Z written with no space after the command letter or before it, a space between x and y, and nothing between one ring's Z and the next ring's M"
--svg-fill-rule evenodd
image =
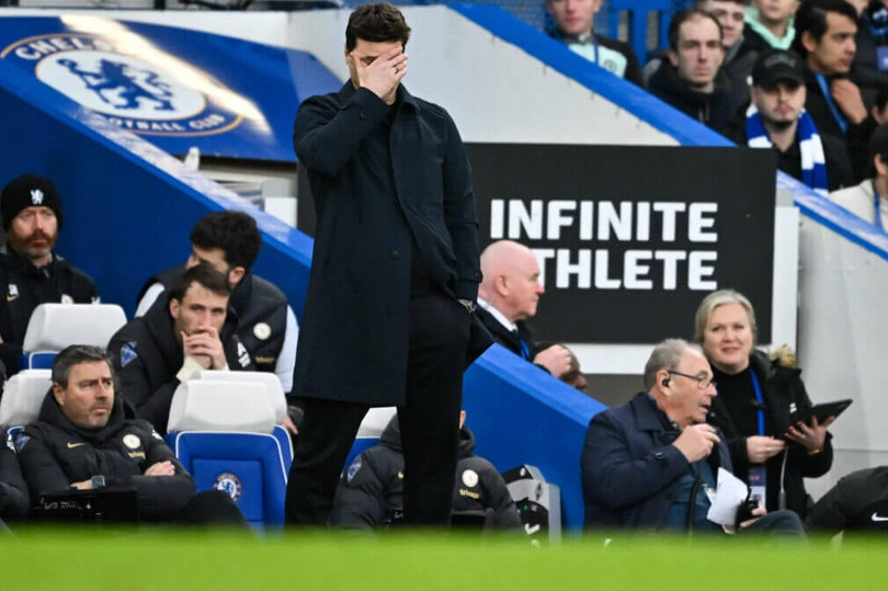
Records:
M843 477L817 501L805 525L808 530L829 533L888 532L888 466Z

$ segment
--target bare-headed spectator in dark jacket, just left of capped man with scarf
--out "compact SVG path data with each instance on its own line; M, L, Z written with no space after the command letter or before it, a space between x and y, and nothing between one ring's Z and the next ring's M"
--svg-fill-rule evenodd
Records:
M648 83L653 94L719 133L747 101L745 88L720 71L721 38L721 25L711 14L679 12L669 24L668 59Z

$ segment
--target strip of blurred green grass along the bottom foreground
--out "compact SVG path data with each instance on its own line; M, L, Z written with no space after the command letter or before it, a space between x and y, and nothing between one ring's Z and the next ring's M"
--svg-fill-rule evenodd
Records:
M807 545L617 537L523 541L441 534L27 530L0 537L0 586L30 589L831 589L888 586L888 541Z

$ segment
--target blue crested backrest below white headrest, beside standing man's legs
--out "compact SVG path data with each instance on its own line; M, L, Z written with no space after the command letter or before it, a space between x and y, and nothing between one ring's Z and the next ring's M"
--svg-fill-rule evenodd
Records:
M175 456L194 478L198 492L227 492L254 527L284 524L287 477L276 437L191 431L173 439Z

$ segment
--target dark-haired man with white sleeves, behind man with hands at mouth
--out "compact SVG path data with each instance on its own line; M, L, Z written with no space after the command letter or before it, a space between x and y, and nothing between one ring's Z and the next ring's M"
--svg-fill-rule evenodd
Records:
M257 371L275 373L284 393L289 394L299 329L287 297L252 273L261 246L262 235L250 215L207 214L191 230L191 254L185 265L158 273L143 286L136 316L145 316L183 271L209 264L231 285L230 305L237 315L238 337L253 356Z

